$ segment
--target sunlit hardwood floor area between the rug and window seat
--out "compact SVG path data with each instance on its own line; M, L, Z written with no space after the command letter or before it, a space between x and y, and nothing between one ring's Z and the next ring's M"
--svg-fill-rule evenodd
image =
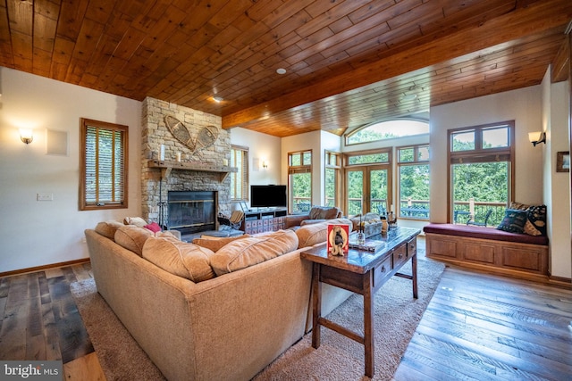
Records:
M446 269L396 380L572 379L572 291Z

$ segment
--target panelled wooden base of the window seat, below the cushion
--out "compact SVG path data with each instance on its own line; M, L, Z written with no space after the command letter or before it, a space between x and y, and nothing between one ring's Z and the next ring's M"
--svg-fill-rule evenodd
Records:
M509 277L548 280L548 245L425 233L427 258Z

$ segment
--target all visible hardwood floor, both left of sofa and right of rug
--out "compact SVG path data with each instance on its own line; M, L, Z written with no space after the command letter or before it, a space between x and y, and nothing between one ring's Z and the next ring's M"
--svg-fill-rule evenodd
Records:
M70 293L87 277L88 263L0 278L0 360L63 360L67 380L105 380ZM571 321L572 290L447 268L395 379L569 380Z

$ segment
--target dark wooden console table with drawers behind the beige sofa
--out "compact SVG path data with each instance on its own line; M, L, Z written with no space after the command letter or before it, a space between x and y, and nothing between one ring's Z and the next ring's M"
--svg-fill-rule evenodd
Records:
M349 249L345 256L332 256L326 246L312 248L300 253L307 261L312 261L313 323L312 346L320 346L320 327L328 327L345 335L357 343L364 344L366 353L366 376L374 377L374 294L393 275L411 279L413 297L417 298L417 256L416 238L420 233L414 228L393 228L387 235L372 236L371 239L384 241L377 252ZM411 260L411 275L398 272ZM341 327L322 317L322 283L338 286L364 296L364 335Z

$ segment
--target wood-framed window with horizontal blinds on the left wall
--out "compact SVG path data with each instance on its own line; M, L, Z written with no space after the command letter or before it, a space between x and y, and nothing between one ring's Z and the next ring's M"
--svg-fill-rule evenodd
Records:
M127 208L128 127L80 122L80 211Z

